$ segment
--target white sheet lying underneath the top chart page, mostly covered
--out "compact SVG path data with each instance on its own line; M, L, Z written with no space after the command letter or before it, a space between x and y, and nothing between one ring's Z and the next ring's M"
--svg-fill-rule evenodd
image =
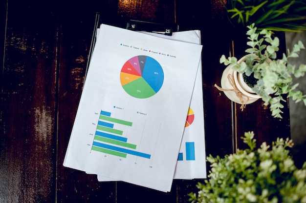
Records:
M200 44L199 30L175 32L172 36L149 32L143 33L169 40ZM186 124L184 130L174 179L190 180L207 178L201 70L201 63L199 63L195 87L190 102L190 115L187 115L188 121L186 122L188 122L188 124ZM117 180L98 175L98 181L105 182Z

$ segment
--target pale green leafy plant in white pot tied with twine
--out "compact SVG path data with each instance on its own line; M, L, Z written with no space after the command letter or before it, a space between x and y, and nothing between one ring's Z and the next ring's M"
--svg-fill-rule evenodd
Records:
M303 101L306 105L306 95L296 90L298 84L292 82L292 77L305 75L306 65L301 64L296 68L288 61L289 58L299 57L300 50L305 49L303 43L299 41L298 44L294 45L292 51L287 50L287 55L283 54L282 59L276 59L279 39L273 37L273 32L266 29L258 32L254 23L248 25L247 28L246 35L248 36L247 45L249 48L245 52L248 55L241 60L236 57L226 58L222 55L220 63L227 65L227 68L222 74L221 88L218 85L215 86L224 91L224 94L230 100L240 103L241 110L243 110L245 104L262 98L264 105L270 105L272 116L277 118L282 118L281 108L284 105L281 101L285 102L284 94L292 97L296 102ZM241 80L243 76L244 80ZM244 88L241 83L248 80L248 77L253 81L255 80L255 83L253 82L254 86ZM253 96L255 99L253 99Z

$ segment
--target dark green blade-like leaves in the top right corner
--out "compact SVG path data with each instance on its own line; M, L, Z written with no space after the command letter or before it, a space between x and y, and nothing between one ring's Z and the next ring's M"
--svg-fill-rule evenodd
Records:
M255 23L259 30L306 30L305 0L228 0L225 8L238 26Z

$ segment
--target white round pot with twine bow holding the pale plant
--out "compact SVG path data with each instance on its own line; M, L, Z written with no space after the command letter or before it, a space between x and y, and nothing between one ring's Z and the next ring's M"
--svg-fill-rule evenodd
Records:
M245 60L246 56L242 57L238 63ZM228 99L242 104L242 110L245 104L256 102L261 98L261 96L254 93L252 88L243 81L241 73L233 71L231 65L227 66L223 71L221 77L221 88Z

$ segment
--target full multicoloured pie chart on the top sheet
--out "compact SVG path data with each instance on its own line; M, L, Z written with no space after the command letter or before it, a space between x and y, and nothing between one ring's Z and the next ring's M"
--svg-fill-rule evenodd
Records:
M164 82L164 71L152 57L135 56L122 66L120 82L126 93L134 98L145 99L160 90Z

